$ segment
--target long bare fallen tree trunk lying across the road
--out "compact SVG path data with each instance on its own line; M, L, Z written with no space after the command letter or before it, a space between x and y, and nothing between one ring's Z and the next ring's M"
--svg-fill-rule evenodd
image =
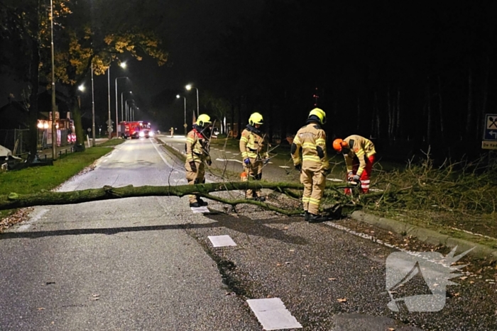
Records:
M131 198L141 196L186 196L188 194L198 194L209 196L209 193L219 191L234 191L246 189L273 189L283 192L288 189L303 189L302 184L295 183L271 183L267 181L239 181L226 183L209 183L197 185L180 186L124 186L111 187L104 186L102 189L87 189L82 191L53 192L41 191L34 194L10 193L9 196L0 196L0 210L25 208L32 206L67 205L72 203L83 203L89 201L101 201L115 198ZM229 203L234 206L237 203L253 203L266 206L266 203L258 201L228 201L225 199L216 200ZM278 211L279 208L278 208Z

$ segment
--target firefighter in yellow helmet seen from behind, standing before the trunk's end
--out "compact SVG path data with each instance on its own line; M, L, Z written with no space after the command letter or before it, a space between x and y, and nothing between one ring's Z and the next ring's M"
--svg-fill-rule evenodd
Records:
M305 126L297 131L290 150L293 165L300 171L300 182L304 185L302 204L305 220L310 223L324 220L319 215L319 208L326 186L326 176L330 172L326 154L326 133L321 128L324 123L326 113L320 108L312 109Z

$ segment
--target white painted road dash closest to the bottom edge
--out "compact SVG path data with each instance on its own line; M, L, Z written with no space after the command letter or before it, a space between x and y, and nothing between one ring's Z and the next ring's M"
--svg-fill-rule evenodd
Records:
M301 328L297 319L287 310L280 298L247 300L264 330Z

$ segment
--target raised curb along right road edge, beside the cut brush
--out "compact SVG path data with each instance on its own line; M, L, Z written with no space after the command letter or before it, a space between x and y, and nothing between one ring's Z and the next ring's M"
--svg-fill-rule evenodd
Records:
M411 235L416 237L418 240L432 245L443 245L449 248L458 247L459 249L457 250L460 252L466 252L468 249L472 248L468 253L471 257L497 261L496 249L477 244L476 242L450 237L449 235L443 235L435 230L420 228L398 220L391 220L389 218L381 218L376 215L366 214L363 211L354 211L350 216L354 220L359 220L360 222L368 223L383 230L395 232L399 235Z

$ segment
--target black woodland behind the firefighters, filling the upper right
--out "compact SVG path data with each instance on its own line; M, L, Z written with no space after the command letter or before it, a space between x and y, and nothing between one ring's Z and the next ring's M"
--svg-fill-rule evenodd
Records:
M205 81L231 102L235 121L261 111L270 135L295 133L317 103L330 137L477 153L484 114L497 106L496 9L494 1L266 1L220 36Z

